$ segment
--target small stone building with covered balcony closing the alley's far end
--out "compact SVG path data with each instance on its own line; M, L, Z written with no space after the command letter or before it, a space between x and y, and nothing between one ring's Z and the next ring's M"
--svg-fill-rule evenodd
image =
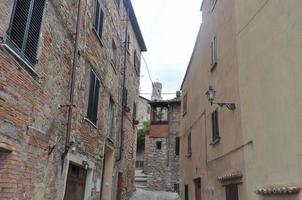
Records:
M152 190L179 188L180 96L150 101L150 131L145 137L145 174Z

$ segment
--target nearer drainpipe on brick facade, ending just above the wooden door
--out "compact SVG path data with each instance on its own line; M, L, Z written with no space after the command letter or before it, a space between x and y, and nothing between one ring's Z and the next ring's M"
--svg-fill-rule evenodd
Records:
M74 44L74 52L73 52L73 64L72 64L72 74L71 74L71 83L70 83L70 96L69 96L69 105L68 105L68 122L67 122L67 133L65 139L65 150L62 154L61 161L62 161L62 168L61 172L63 172L64 160L70 148L70 133L71 133L71 122L72 122L72 111L74 106L74 87L76 81L76 67L78 62L79 56L79 36L80 36L80 17L82 11L82 0L78 2L78 15L77 15L77 25L76 25L76 37L75 37L75 44Z

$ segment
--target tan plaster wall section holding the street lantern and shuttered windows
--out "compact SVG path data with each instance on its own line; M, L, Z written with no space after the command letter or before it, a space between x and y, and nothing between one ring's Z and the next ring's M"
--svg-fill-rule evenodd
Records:
M238 64L236 50L235 2L218 0L214 9L210 0L203 5L203 24L196 41L187 76L182 86L187 94L187 114L181 119L181 195L184 184L189 184L189 199L195 199L193 180L201 177L202 199L223 200L225 188L218 181L234 171L243 173L239 184L240 199L246 199L243 149L248 148L242 138L240 123L240 100L238 87ZM210 42L217 37L216 68L210 71ZM234 102L234 112L227 108L210 106L205 95L208 86L217 91L217 102ZM212 143L211 113L218 109L221 140ZM192 156L187 157L187 136L191 132Z

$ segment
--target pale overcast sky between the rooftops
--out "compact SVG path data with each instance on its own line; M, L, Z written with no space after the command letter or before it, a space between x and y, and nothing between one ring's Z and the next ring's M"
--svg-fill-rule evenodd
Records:
M175 93L188 66L199 25L202 0L132 0L148 51L143 53L153 82ZM140 92L150 99L152 84L141 61ZM164 99L175 95L162 95Z

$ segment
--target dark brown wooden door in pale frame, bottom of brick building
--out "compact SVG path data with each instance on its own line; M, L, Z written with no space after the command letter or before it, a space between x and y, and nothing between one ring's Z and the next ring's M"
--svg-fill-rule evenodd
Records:
M69 165L64 200L84 200L86 174L85 169Z

